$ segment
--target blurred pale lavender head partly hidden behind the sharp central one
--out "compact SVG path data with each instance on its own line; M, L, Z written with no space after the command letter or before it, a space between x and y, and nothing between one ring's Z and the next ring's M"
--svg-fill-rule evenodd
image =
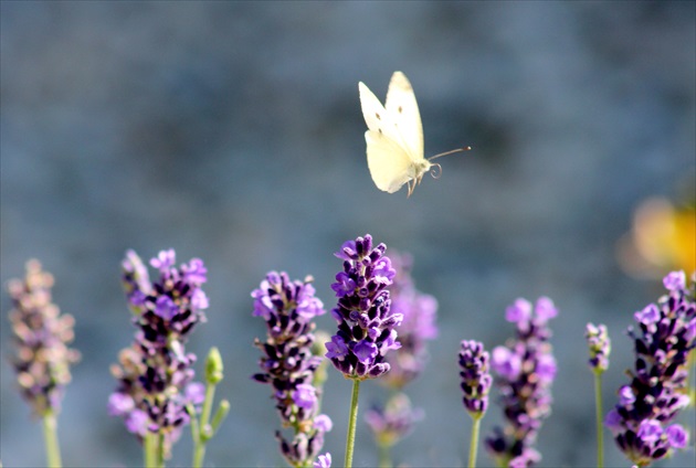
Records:
M415 289L411 277L412 259L410 255L390 254L396 270L393 284L389 289L392 313L401 313L403 321L399 326L398 352L386 357L391 370L380 379L383 385L400 390L416 379L428 362L428 341L437 337L435 318L437 300Z

